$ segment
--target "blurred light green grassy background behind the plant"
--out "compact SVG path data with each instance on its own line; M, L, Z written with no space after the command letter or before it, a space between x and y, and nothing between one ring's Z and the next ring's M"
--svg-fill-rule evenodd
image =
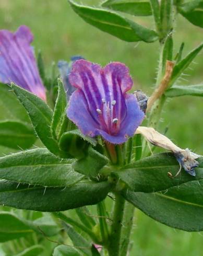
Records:
M97 0L82 3L97 5ZM153 28L151 18L135 18L142 25ZM78 17L67 0L0 0L0 29L15 31L27 25L34 34L34 48L41 50L47 66L52 61L69 60L72 55L105 65L111 61L125 63L134 78L135 88L148 95L153 90L158 66L159 43L127 43L110 36ZM182 17L177 17L174 33L174 54L185 42L184 55L203 40L203 30ZM192 85L203 82L203 58L200 54L187 69L178 84ZM0 96L1 97L1 96ZM168 100L160 131L169 128L167 135L178 146L203 155L202 98L180 97ZM4 152L2 152L4 153ZM193 218L193 216L191 216ZM202 254L203 235L175 230L159 224L144 214L136 213L133 251L130 255L184 255ZM0 252L1 255L1 252Z

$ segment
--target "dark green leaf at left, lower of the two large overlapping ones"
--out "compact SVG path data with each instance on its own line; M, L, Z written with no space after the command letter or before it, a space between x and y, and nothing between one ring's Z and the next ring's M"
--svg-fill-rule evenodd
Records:
M0 205L40 212L66 211L97 204L110 190L108 182L81 181L67 188L42 188L2 180Z

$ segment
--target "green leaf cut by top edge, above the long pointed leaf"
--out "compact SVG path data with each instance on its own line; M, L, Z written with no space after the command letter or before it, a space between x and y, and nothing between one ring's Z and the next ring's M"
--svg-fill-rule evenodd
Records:
M101 5L113 10L123 11L123 13L134 16L150 16L152 15L149 1L137 0L107 0Z

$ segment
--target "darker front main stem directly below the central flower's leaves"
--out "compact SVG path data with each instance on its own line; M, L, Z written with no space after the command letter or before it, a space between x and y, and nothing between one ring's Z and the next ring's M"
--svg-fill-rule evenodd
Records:
M123 222L125 199L120 194L115 194L113 211L113 224L109 238L109 256L119 256L121 247L121 230Z

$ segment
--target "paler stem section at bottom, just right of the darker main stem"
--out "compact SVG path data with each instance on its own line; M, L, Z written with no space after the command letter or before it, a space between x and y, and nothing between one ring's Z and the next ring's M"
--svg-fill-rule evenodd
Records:
M120 256L126 256L129 250L130 234L133 228L135 206L126 202L123 217L122 244Z

